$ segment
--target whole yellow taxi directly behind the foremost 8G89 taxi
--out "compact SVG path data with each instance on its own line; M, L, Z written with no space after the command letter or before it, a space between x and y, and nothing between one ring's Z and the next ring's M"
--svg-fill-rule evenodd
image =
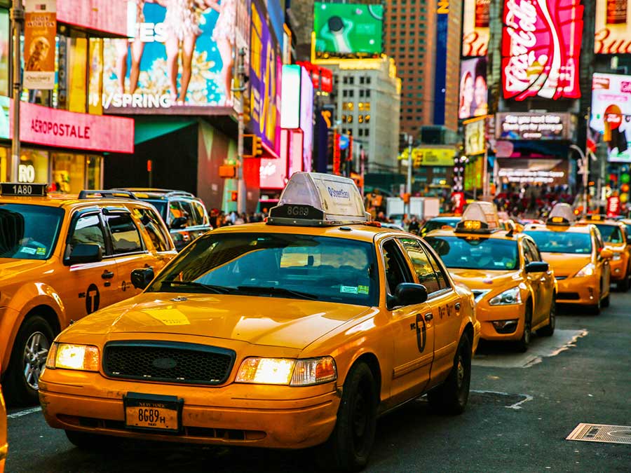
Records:
M484 340L526 351L533 331L554 333L555 276L529 236L502 230L494 204L470 203L455 230L425 239L454 280L473 291Z

